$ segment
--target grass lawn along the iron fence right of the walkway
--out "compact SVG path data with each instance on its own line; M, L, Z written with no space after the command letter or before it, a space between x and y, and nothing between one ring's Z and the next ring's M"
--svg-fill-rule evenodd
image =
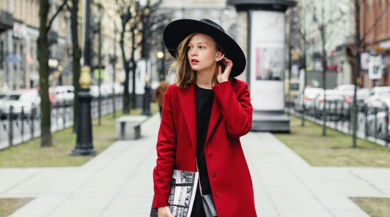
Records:
M359 138L353 148L350 135L328 128L323 137L322 126L290 118L291 134L274 135L312 166L390 167L390 148Z

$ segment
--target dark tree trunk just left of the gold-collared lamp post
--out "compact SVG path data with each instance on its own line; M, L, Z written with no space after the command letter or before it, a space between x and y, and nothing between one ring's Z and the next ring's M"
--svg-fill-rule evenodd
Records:
M80 79L80 58L81 50L78 47L78 22L77 22L77 13L78 13L78 0L73 0L72 6L72 44L73 44L73 86L75 87L75 98L73 99L73 132L77 130L77 113L78 113L78 92L80 91L80 84L78 79Z

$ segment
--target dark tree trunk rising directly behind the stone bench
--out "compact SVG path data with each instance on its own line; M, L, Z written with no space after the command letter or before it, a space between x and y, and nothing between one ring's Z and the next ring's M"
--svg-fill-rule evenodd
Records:
M123 93L123 114L130 113L130 94L129 94L129 73L130 67L129 62L126 60L125 48L124 48L124 36L125 36L126 23L122 21L122 31L120 32L120 49L122 51L123 67L125 69L126 77L124 82L124 93ZM136 67L133 65L133 68ZM134 87L133 87L134 88Z

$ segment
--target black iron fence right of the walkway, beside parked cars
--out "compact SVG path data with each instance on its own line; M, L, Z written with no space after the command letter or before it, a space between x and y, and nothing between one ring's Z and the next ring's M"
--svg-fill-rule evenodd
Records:
M324 108L325 103L325 108ZM288 113L297 117L326 125L345 134L352 134L352 103L345 101L325 101L296 103L286 101ZM372 107L364 103L357 104L357 137L368 139L389 147L390 140L389 108Z

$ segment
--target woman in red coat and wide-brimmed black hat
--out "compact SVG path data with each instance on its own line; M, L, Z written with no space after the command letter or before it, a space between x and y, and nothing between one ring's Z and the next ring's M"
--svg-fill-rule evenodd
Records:
M218 217L256 217L252 179L239 138L252 126L248 84L238 44L215 22L175 20L164 43L176 59L157 138L153 207L172 217L169 182L174 169L199 171L203 195L212 194ZM196 165L197 164L197 165ZM205 216L199 188L191 217Z

